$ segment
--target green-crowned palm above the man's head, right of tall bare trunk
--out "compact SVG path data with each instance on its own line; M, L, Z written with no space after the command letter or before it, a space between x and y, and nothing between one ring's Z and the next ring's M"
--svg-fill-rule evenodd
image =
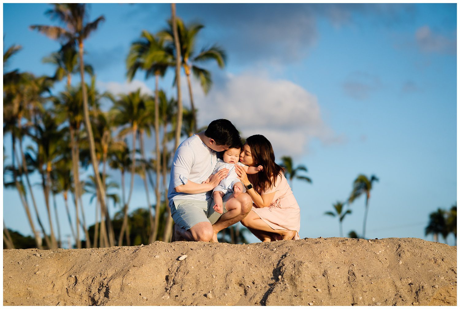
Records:
M192 85L190 83L190 74L193 75L200 81L203 92L207 94L213 83L211 78L211 72L206 69L199 67L197 64L214 60L217 62L220 68L224 68L226 61L226 53L223 48L213 45L210 48L202 48L201 52L196 52L195 45L198 32L204 28L202 24L191 23L185 25L180 18L176 18L177 23L177 36L179 44L176 46L176 51L180 47L180 53L178 58L181 59L181 65L184 68L185 76L187 77L187 85L189 88L190 95L190 106L191 113L193 116L194 131L196 132L196 109L193 101ZM174 42L174 31L173 22L168 21L169 29L165 29L159 32L159 35L165 40L170 42L170 46L173 47ZM182 58L180 57L182 56ZM176 79L179 75L176 75Z

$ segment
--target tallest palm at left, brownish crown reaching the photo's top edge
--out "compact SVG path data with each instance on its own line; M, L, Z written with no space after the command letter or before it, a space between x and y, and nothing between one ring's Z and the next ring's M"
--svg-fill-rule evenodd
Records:
M86 12L86 4L84 3L53 4L53 8L47 10L46 14L49 15L52 20L58 19L60 22L64 23L66 28L59 26L32 25L30 26L30 29L36 29L53 40L61 41L63 43L63 46L74 46L75 43L78 43L86 134L88 137L92 167L94 170L94 175L96 177L96 183L98 187L99 202L101 204L101 208L105 209L104 187L101 179L99 178L99 169L96 160L94 138L89 118L88 95L86 92L84 75L85 63L83 61L83 45L85 39L88 38L88 36L98 28L99 23L103 22L105 19L104 16L101 15L96 20L92 22L87 22L88 13Z

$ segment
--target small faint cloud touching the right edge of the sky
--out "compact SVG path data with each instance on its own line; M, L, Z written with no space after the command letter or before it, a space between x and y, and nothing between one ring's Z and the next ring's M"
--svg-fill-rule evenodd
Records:
M455 36L451 39L431 31L429 26L423 26L415 32L415 39L420 49L424 52L441 52L455 54L457 51L457 40Z

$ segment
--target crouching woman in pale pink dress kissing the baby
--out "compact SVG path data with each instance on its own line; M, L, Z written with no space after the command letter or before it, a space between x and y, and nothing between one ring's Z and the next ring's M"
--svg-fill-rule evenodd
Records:
M263 242L299 239L299 204L282 168L275 163L270 141L259 134L248 137L240 153L240 162L264 167L248 177L241 166L235 165L236 173L254 203L241 223Z

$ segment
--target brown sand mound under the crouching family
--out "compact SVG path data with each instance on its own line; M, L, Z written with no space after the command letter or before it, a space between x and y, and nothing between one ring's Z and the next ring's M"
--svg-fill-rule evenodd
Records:
M456 305L457 247L422 239L3 250L4 305Z

